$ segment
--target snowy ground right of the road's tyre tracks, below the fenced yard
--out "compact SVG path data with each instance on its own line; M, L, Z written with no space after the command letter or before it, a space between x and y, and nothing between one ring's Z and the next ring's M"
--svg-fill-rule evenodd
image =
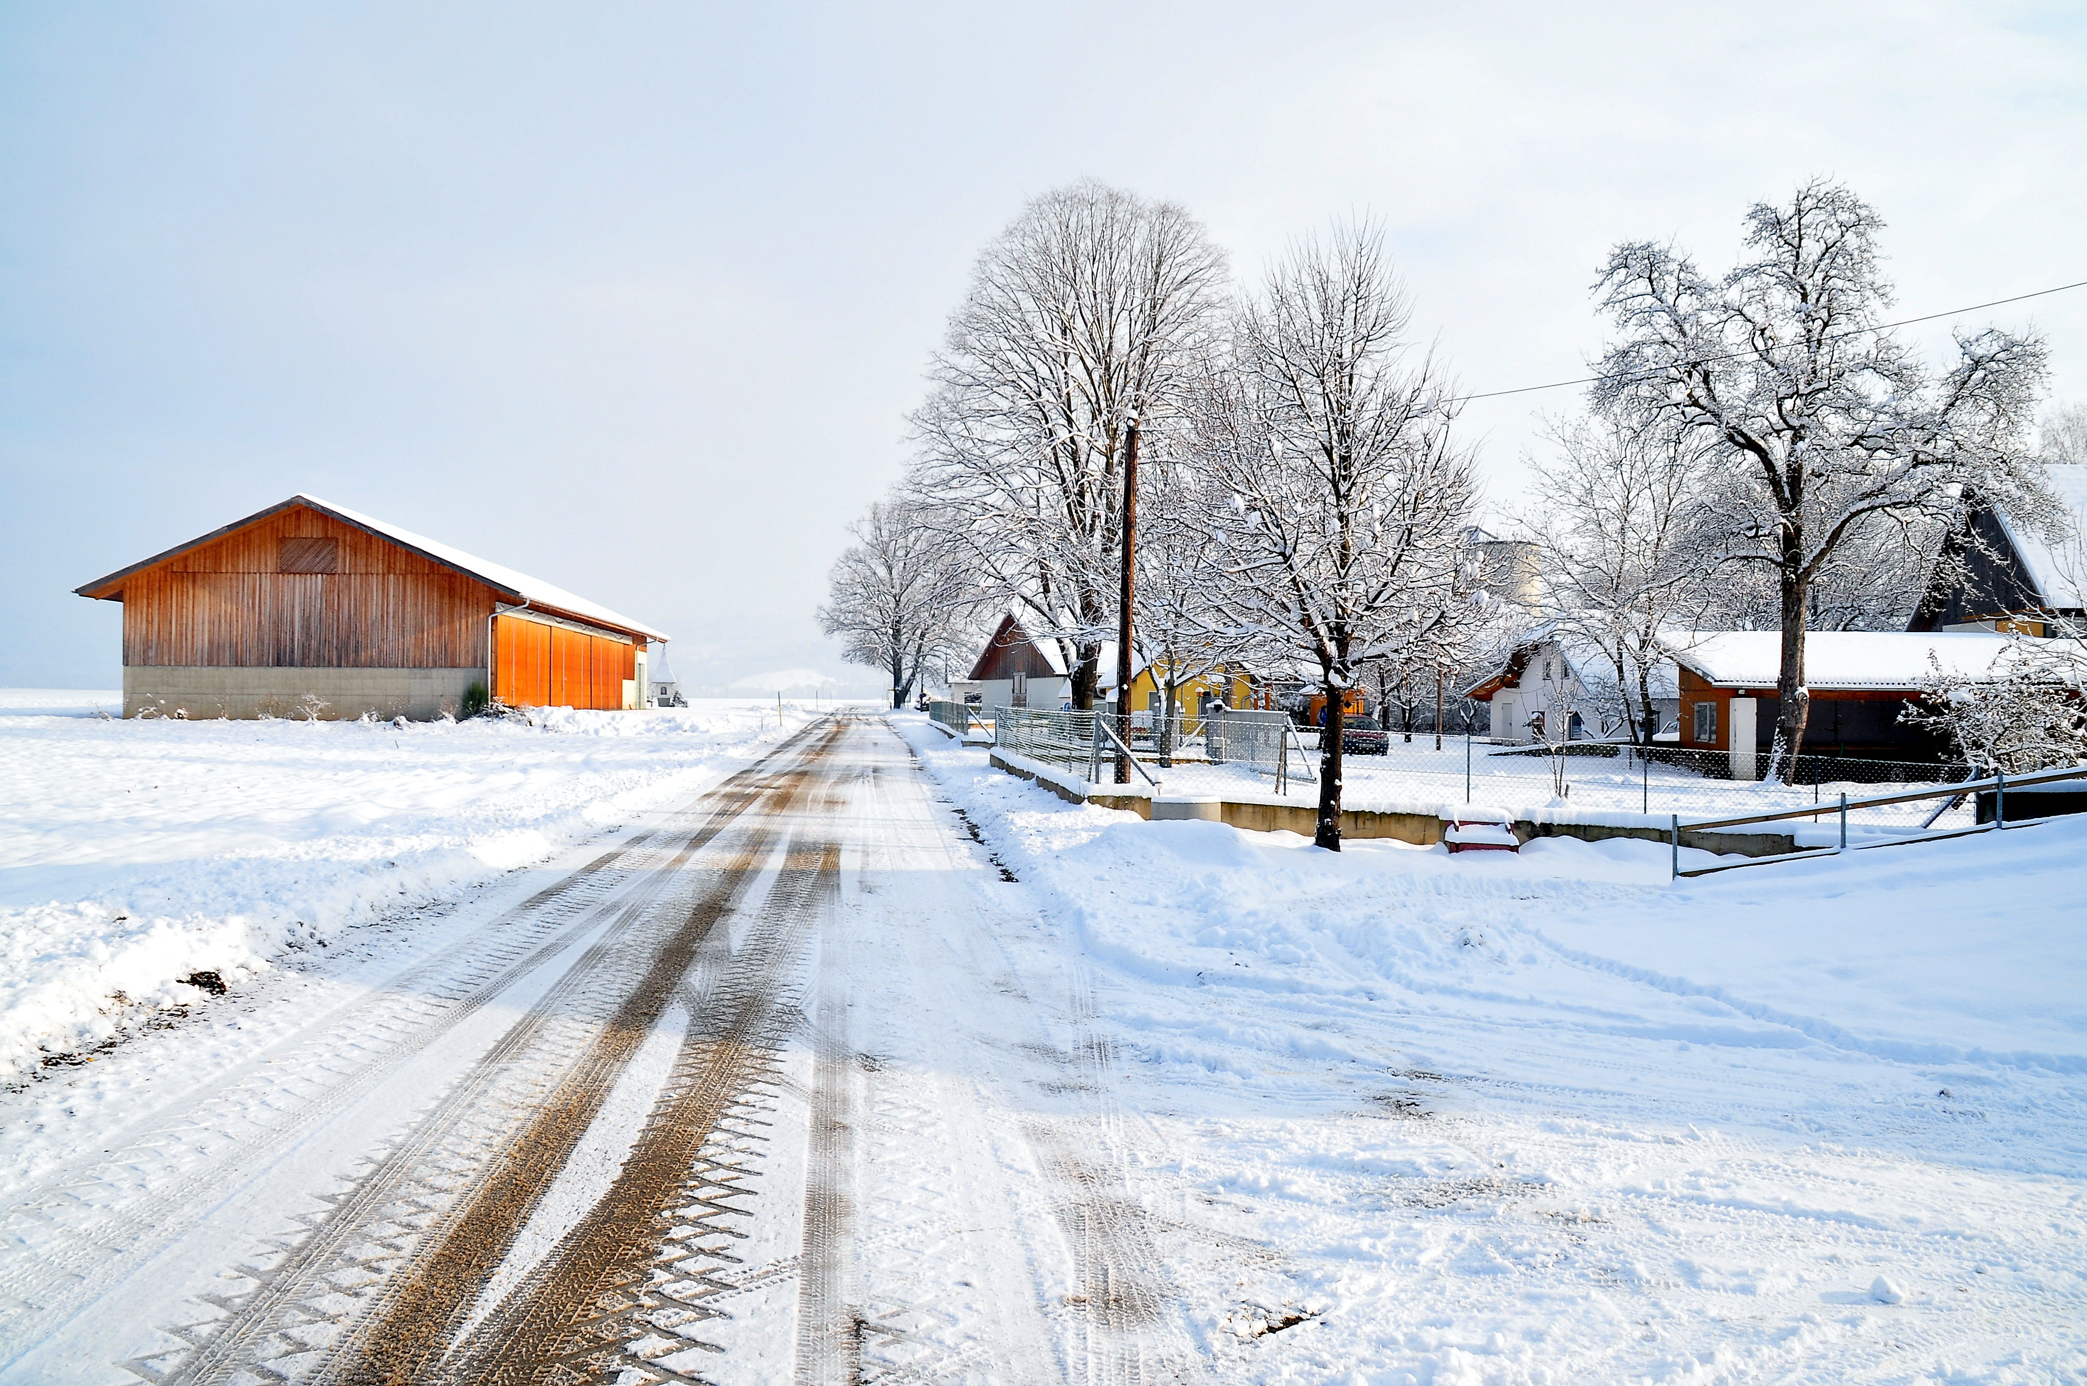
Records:
M1100 969L1152 1211L1275 1248L1236 1380L2087 1382L2087 822L1336 856L897 720Z

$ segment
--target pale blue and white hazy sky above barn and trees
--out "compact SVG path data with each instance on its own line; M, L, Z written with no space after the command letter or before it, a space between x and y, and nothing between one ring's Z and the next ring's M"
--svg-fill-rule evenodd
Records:
M69 589L294 491L689 683L874 680L812 622L841 526L983 240L1081 175L1248 278L1377 215L1473 390L1582 374L1613 240L1722 267L1814 173L1908 315L2087 280L2077 4L749 8L0 4L0 685L113 687ZM1985 319L2087 397L2087 290ZM1471 407L1498 501L1574 403Z

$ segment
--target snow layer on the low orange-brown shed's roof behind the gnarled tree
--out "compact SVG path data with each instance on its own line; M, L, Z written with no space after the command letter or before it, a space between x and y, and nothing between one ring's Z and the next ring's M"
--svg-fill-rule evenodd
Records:
M1674 632L1674 660L1718 689L1774 689L1782 666L1776 630ZM1903 630L1814 630L1805 635L1809 689L1918 689L1945 674L1985 678L2016 637ZM2077 641L2064 641L2074 645Z

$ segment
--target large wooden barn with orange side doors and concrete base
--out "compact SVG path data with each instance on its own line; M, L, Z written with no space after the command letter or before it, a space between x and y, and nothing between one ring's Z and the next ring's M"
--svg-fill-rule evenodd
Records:
M75 591L123 603L123 716L641 708L647 649L666 641L309 495Z

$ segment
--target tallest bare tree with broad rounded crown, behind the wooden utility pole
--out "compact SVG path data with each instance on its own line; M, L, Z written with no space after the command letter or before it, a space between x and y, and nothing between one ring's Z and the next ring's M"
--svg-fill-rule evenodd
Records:
M1048 192L979 257L912 417L916 493L987 593L1062 643L1075 708L1094 706L1117 622L1125 424L1165 424L1223 288L1223 253L1179 207L1096 182Z

